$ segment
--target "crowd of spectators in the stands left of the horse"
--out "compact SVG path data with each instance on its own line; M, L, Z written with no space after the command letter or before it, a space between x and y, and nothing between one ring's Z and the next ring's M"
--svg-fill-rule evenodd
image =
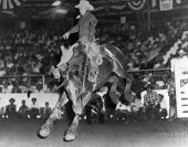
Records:
M48 76L51 65L59 62L61 43L60 35L44 29L2 30L0 32L0 76L13 75L14 77L1 80L1 92L13 92L10 88L18 85L21 90L15 92L27 92L30 88L35 91L35 86L42 83L40 75ZM8 86L9 91L6 90Z

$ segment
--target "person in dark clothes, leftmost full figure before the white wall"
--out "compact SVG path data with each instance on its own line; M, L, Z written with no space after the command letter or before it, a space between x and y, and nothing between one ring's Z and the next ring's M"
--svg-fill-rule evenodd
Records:
M4 116L8 118L15 118L17 117L17 106L14 105L15 99L10 98L9 105L6 106L6 113Z

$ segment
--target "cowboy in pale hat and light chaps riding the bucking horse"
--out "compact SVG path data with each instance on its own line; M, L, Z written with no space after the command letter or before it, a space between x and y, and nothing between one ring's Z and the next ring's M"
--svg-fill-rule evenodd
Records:
M63 38L69 39L70 34L79 32L79 44L83 45L91 63L88 81L95 83L98 74L98 65L102 63L102 56L100 48L95 43L95 27L97 24L97 20L91 13L91 11L94 10L94 7L87 0L81 0L75 8L77 8L81 13L81 15L79 15L79 23L67 31Z

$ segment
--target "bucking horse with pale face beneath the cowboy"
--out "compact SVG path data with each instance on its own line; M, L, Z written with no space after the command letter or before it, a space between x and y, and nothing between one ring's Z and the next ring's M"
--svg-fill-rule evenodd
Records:
M50 135L54 120L61 118L61 108L70 99L72 101L72 108L75 114L72 124L64 135L64 140L70 141L76 138L80 115L83 113L84 106L92 98L93 92L102 87L107 81L112 81L112 74L115 74L121 78L127 77L126 56L114 45L100 45L102 62L98 65L96 82L92 83L88 78L91 65L83 46L76 44L69 50L62 49L62 52L66 55L64 56L64 60L66 60L65 62L67 63L66 66L63 65L63 70L60 67L60 73L61 76L64 77L63 85L67 97L61 96L59 98L52 114L41 126L39 136L45 138ZM118 99L114 102L117 105Z

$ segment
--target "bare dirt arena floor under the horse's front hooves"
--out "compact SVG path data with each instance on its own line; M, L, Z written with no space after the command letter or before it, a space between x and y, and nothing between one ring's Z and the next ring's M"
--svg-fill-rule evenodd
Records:
M43 120L0 119L0 147L188 147L188 120L81 122L74 141L63 141L67 120L55 123L51 135L36 132Z

